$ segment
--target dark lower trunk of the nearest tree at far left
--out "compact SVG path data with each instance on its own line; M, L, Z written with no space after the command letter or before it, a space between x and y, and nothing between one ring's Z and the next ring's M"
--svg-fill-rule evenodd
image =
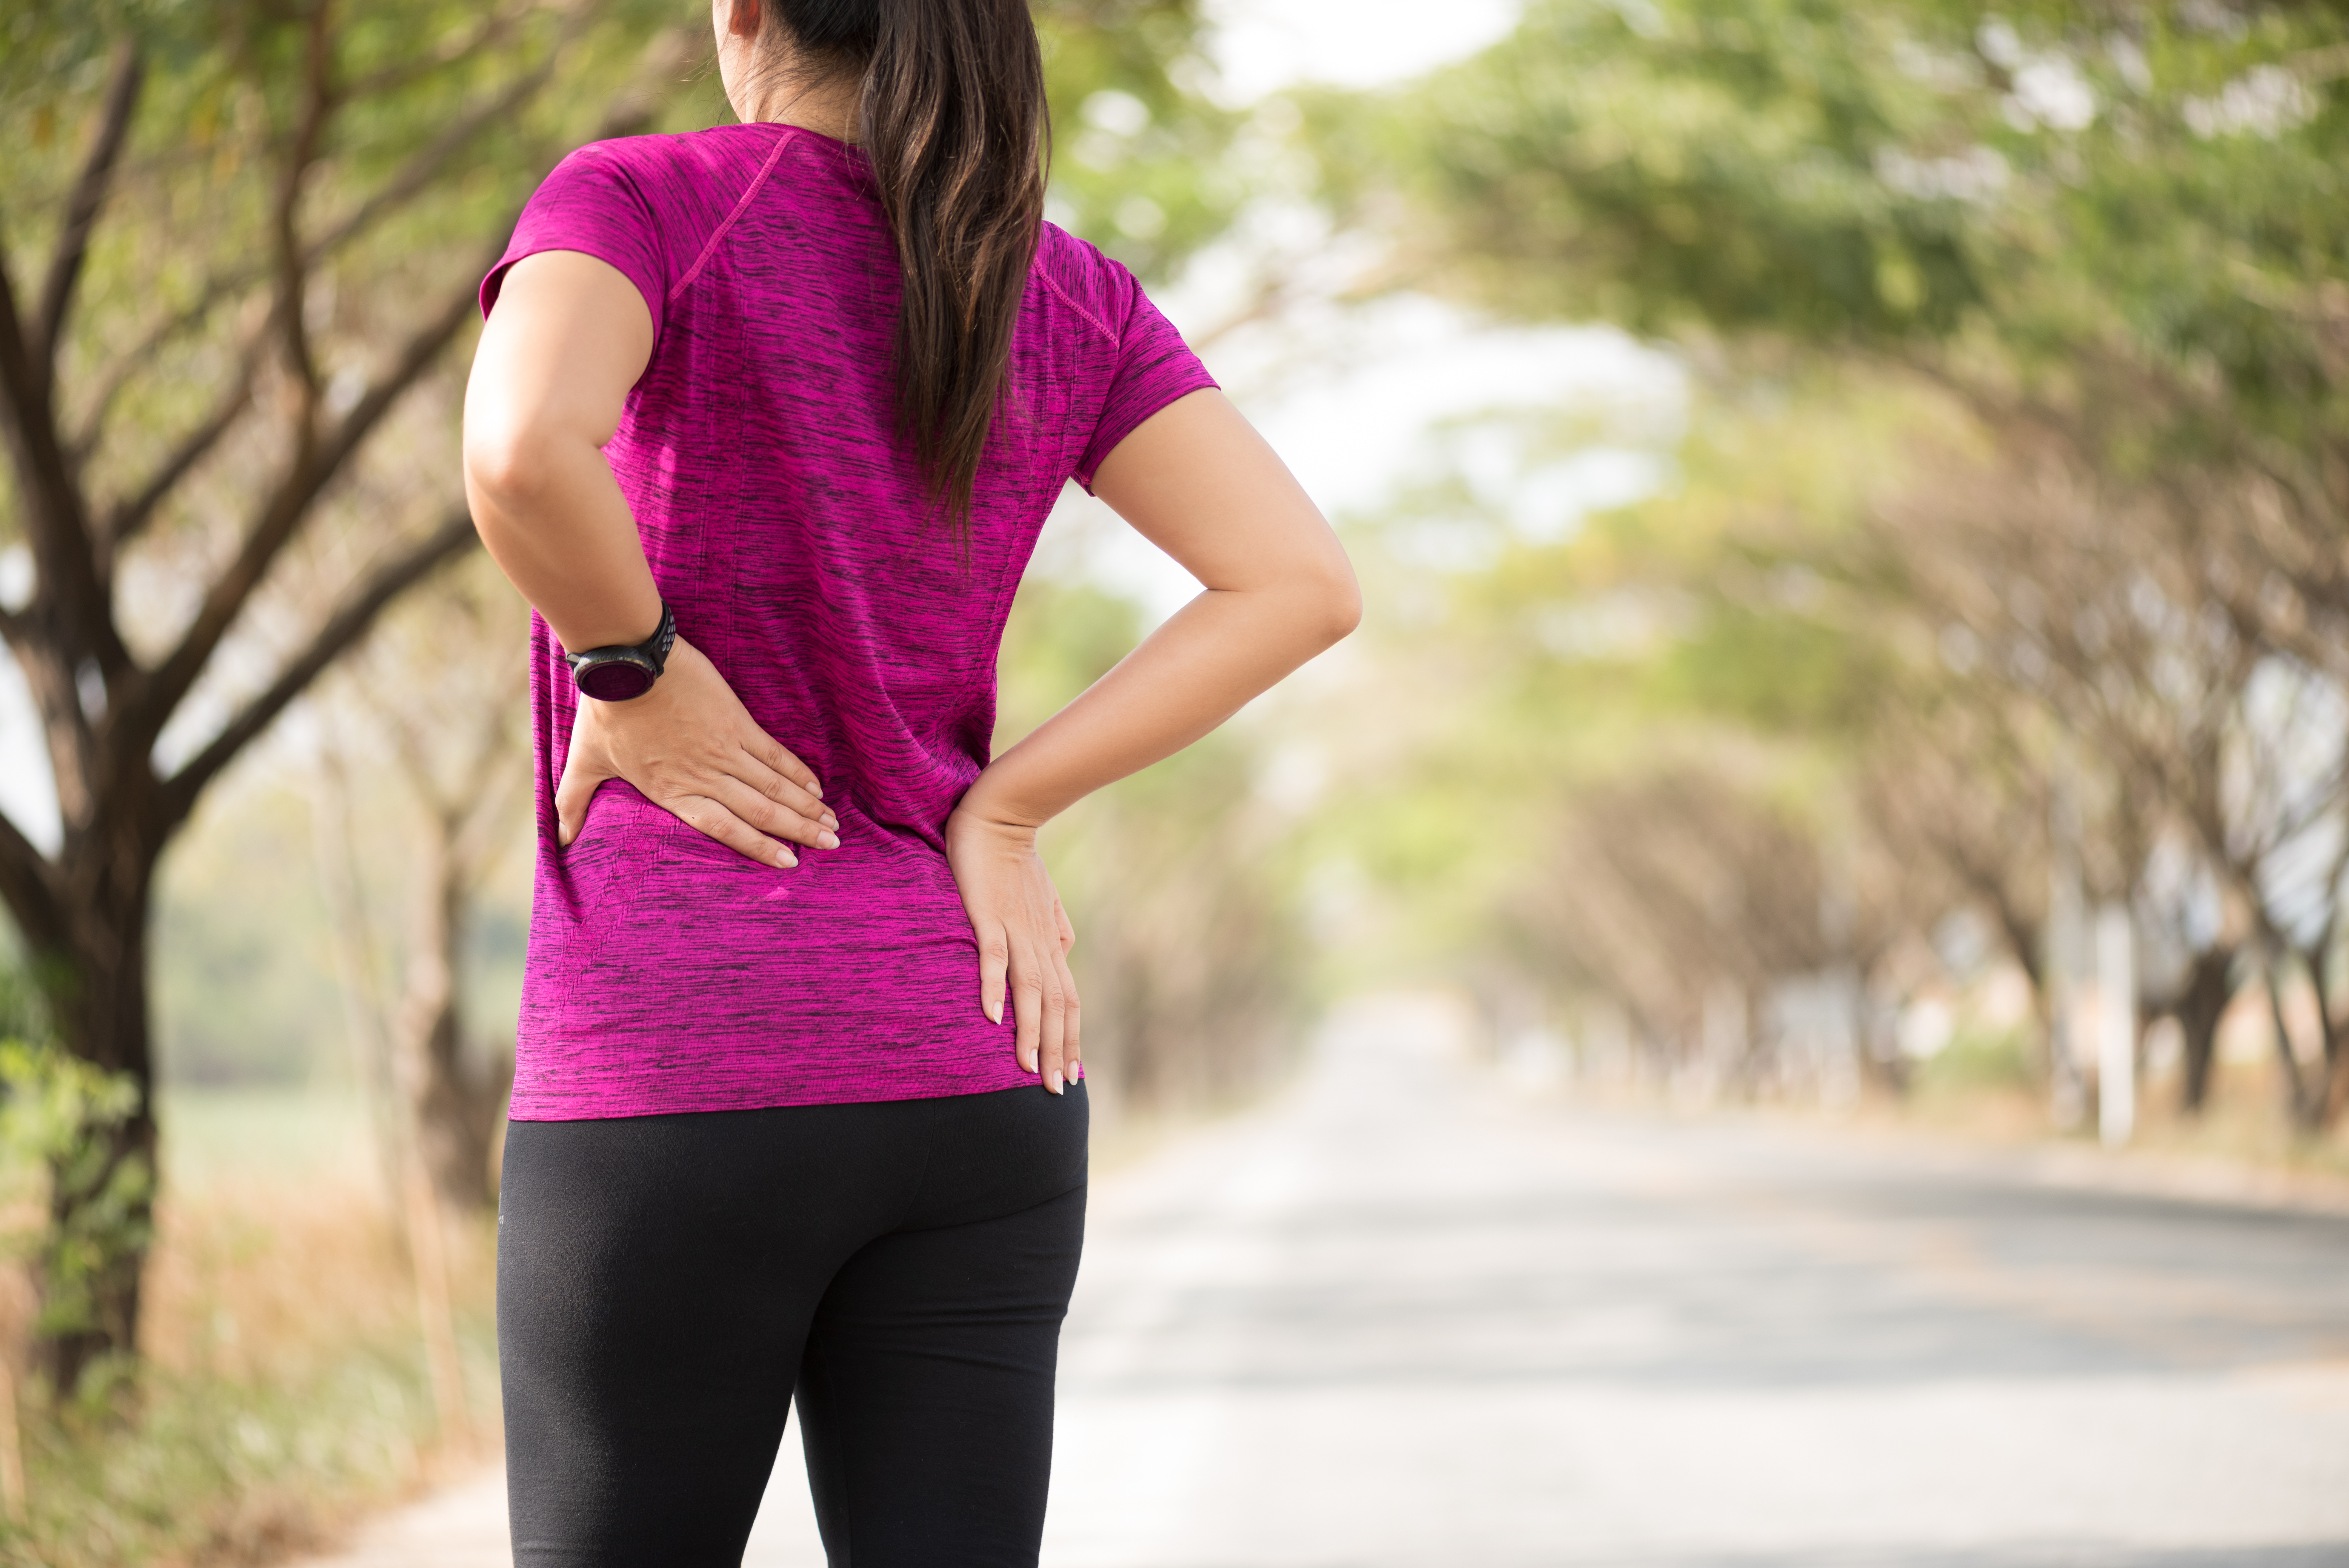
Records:
M132 1114L87 1128L52 1161L49 1237L38 1274L35 1359L63 1396L101 1359L139 1345L141 1274L155 1229L155 1058L146 943L155 858L115 846L113 875L68 912L68 945L42 954L66 1051L139 1091Z

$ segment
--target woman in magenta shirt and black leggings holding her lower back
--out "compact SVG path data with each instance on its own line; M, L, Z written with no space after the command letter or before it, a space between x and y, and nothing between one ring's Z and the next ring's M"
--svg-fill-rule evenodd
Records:
M547 176L465 400L472 512L538 611L514 1556L738 1563L796 1399L834 1563L1034 1563L1085 1204L1036 830L1358 595L1132 277L1043 223L1022 0L714 24L742 122ZM1071 475L1205 592L989 762Z

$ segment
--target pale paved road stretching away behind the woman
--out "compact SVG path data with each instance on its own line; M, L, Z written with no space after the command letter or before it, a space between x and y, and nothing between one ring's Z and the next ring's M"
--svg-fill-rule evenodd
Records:
M1581 1114L1431 1039L1358 1016L1097 1182L1045 1563L2349 1566L2349 1218ZM747 1568L820 1563L794 1448ZM350 1563L500 1561L493 1488L437 1507Z

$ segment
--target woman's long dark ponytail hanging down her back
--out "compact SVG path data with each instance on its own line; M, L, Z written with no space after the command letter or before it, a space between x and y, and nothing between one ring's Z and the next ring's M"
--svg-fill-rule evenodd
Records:
M961 534L1043 223L1050 113L1027 0L763 0L857 136L897 237L897 430Z

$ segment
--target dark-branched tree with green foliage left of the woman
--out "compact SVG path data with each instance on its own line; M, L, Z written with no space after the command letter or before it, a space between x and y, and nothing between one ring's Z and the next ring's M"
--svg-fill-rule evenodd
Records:
M0 527L38 590L0 635L40 708L61 842L0 823L7 903L66 1051L127 1077L89 1182L132 1241L47 1321L73 1389L136 1342L157 1126L146 940L197 797L399 595L470 548L453 480L364 517L371 463L442 463L413 393L446 367L519 197L585 132L641 125L651 7L423 0L12 12L0 136ZM561 78L585 94L547 94ZM578 103L608 106L601 120ZM590 110L592 115L594 110ZM329 536L331 534L331 536ZM350 557L291 602L298 548ZM52 1298L52 1307L59 1302Z

